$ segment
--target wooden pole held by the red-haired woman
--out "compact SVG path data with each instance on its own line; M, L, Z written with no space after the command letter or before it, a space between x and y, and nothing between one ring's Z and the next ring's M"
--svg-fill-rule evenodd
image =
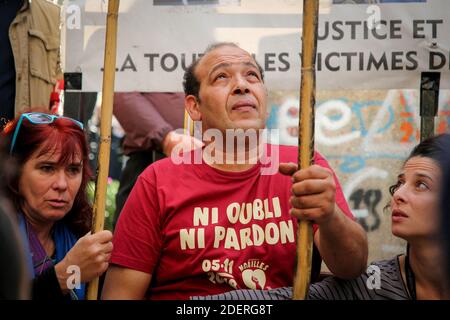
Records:
M103 71L102 109L100 118L100 148L98 154L97 182L95 187L92 233L103 230L105 222L106 187L108 183L111 149L111 122L116 71L117 20L120 0L108 1L106 20L105 66ZM88 287L87 299L97 300L98 278Z

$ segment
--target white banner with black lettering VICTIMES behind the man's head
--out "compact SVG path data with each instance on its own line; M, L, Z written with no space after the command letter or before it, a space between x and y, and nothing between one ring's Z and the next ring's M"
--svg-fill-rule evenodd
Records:
M298 90L302 3L121 0L116 91L182 91L184 69L218 41L254 53L270 90ZM320 5L318 90L418 89L422 71L440 72L450 89L450 1ZM82 72L83 91L101 91L106 11L101 0L64 5L64 71Z

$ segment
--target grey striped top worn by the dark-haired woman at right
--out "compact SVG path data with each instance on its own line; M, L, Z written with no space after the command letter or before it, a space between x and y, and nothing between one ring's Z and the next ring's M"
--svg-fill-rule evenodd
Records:
M289 300L292 287L272 290L233 290L218 295L191 297L193 300ZM308 300L408 300L398 256L373 262L354 280L325 278L312 284Z

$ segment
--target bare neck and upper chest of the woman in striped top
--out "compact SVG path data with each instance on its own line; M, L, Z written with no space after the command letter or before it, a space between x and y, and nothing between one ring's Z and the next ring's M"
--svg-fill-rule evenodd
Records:
M449 299L445 284L443 252L437 241L410 243L409 263L414 273L418 300Z

